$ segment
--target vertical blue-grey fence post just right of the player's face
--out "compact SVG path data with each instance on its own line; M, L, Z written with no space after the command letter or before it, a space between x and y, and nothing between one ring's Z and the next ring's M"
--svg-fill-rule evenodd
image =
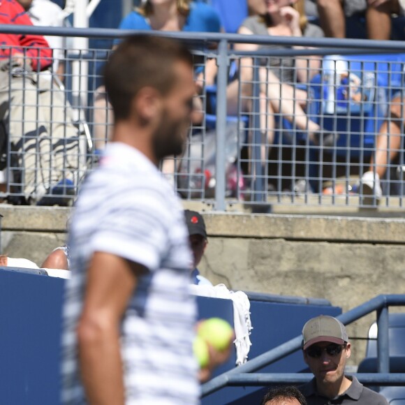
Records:
M225 211L226 188L226 86L228 84L228 41L222 39L218 44L216 58L216 159L215 159L215 205L216 211Z

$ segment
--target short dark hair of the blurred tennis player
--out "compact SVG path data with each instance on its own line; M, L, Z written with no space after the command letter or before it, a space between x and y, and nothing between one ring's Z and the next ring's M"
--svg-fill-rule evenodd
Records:
M128 119L133 98L143 87L168 94L176 84L178 62L193 66L191 53L176 40L140 34L119 43L104 68L115 121Z

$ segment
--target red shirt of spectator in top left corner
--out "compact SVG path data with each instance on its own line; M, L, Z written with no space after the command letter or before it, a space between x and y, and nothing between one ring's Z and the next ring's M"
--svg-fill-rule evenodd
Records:
M32 25L32 22L17 1L0 0L0 24ZM0 33L0 59L17 53L31 59L34 71L52 64L52 50L43 36Z

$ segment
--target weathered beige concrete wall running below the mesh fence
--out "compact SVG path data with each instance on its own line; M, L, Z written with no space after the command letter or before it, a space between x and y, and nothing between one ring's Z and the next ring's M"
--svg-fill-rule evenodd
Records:
M69 209L10 207L3 253L40 265L64 244ZM347 311L383 293L405 293L405 220L338 216L204 214L209 234L200 271L233 290L321 297ZM375 315L348 328L367 337ZM352 363L364 355L356 341Z

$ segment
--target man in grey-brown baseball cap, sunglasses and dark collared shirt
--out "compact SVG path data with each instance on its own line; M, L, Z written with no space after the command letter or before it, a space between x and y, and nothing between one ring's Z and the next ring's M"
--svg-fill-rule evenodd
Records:
M302 329L304 361L314 378L300 387L308 405L388 405L377 392L365 388L344 368L351 355L343 323L332 316L316 316Z

